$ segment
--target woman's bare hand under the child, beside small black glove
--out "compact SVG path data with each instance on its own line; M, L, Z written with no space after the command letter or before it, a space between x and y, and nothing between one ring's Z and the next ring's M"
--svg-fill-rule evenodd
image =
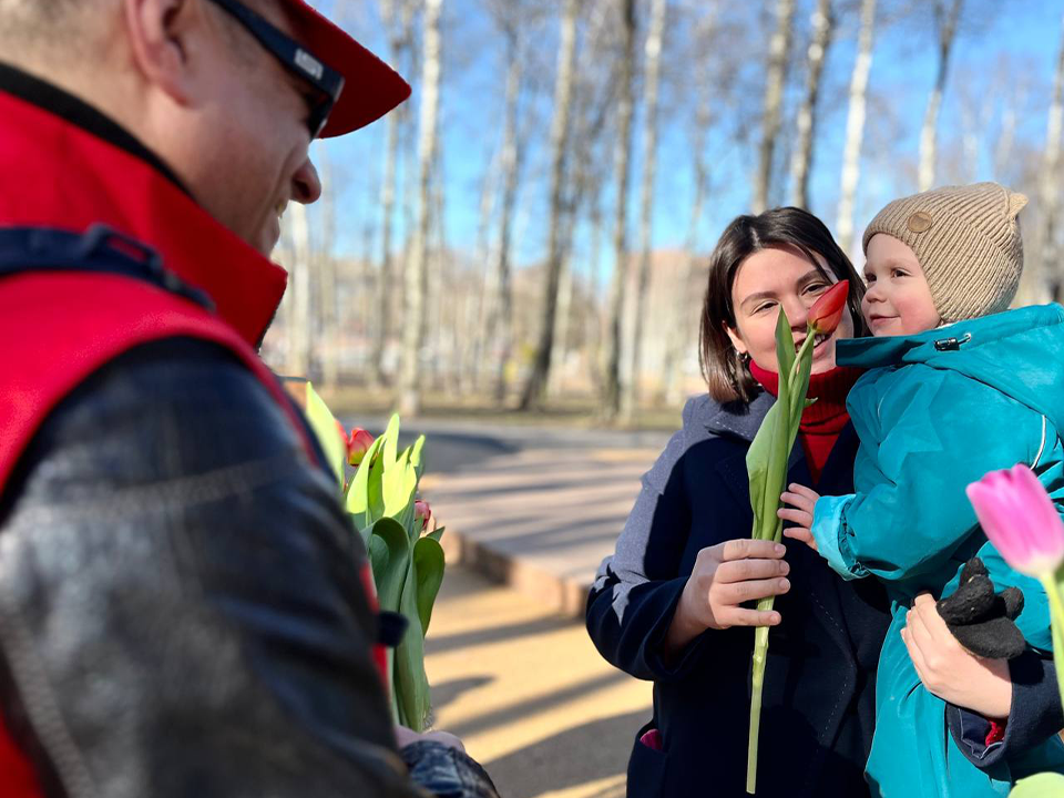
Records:
M1012 678L1005 659L983 659L965 649L945 625L928 593L915 597L901 638L923 686L954 706L1001 720L1012 709Z

